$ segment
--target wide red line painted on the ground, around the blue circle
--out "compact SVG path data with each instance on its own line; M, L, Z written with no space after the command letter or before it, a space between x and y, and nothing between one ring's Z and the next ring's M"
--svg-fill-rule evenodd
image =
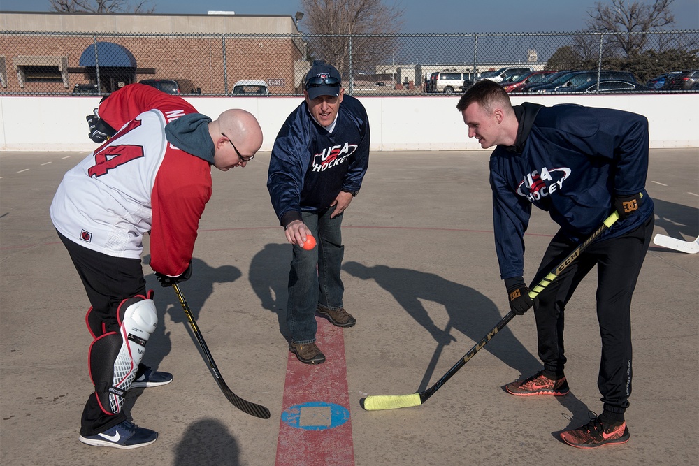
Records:
M282 412L314 401L334 403L351 411L343 329L327 319L317 316L316 320L316 344L326 361L320 365L303 364L289 351ZM354 466L352 418L326 430L294 428L280 420L275 466L290 465Z

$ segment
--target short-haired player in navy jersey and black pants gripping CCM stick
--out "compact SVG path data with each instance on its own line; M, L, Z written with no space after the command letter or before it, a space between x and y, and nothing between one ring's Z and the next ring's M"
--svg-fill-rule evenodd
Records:
M598 388L603 412L580 428L561 432L579 448L628 441L624 419L631 393L630 305L653 232L653 201L645 190L648 122L621 110L580 105L512 107L500 85L477 82L456 108L468 136L497 146L490 159L493 222L500 277L515 314L534 307L540 372L507 384L512 395L565 395L563 314L582 279L598 270L597 316L602 338ZM529 298L524 282L524 232L531 206L561 227L532 284L548 274L614 210L619 221L589 245L558 279ZM530 285L531 286L531 285Z

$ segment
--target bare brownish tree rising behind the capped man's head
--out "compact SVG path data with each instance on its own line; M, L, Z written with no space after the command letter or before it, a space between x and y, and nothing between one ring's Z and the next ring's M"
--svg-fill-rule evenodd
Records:
M382 0L301 0L303 23L309 34L332 36L310 38L316 59L333 64L347 76L352 70L375 73L376 65L396 52L398 41L390 37L403 26L403 10L386 6ZM382 34L382 37L354 37L353 34Z

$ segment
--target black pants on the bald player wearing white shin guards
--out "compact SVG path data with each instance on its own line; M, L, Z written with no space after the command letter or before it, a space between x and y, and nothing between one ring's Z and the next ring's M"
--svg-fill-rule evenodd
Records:
M117 308L122 300L144 295L145 278L140 259L113 257L82 247L58 233L73 260L87 292L92 312L106 325L107 332L118 332ZM125 421L126 413L106 414L99 407L94 391L82 411L80 435L96 435Z

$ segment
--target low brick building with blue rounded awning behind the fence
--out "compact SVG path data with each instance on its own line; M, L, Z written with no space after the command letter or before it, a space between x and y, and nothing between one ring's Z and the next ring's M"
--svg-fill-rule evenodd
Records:
M113 92L153 78L213 95L265 80L271 94L293 94L305 57L291 16L0 13L0 94Z

